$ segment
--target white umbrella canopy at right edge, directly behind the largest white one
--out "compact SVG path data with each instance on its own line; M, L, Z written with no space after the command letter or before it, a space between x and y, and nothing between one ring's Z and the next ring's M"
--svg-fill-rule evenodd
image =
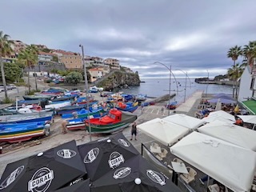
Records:
M202 134L220 138L226 142L256 151L256 131L254 130L217 120L199 127L198 131Z

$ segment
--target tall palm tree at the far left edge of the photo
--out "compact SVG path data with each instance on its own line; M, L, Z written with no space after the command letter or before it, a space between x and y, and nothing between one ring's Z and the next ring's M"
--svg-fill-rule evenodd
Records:
M13 43L12 41L9 40L10 36L8 34L3 34L2 30L0 31L0 65L1 65L1 72L2 72L2 84L5 89L5 97L6 100L8 98L7 95L7 90L6 90L6 76L5 76L5 71L4 71L4 64L2 57L6 57L12 52L11 49L11 44Z

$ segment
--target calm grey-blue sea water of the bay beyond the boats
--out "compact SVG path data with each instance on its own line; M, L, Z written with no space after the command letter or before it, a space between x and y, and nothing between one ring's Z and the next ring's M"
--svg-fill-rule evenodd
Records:
M171 79L170 82L169 78L146 78L141 79L141 81L144 81L145 83L141 83L140 86L134 86L130 89L122 89L120 91L123 91L126 94L146 94L150 97L158 97L164 94L168 94L170 85L171 93L178 93L176 97L172 99L172 101L175 99L178 102L184 101L185 88L186 98L189 98L190 95L193 94L196 90L203 90L204 93L207 92L207 94L232 94L232 86L198 84L194 82L194 79L191 78L177 78L176 82L174 79Z

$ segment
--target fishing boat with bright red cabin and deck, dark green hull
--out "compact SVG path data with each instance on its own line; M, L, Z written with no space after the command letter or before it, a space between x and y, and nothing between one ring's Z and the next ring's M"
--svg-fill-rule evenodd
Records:
M114 108L102 118L91 118L90 130L89 120L86 120L86 130L94 134L110 134L126 128L136 119L136 114Z

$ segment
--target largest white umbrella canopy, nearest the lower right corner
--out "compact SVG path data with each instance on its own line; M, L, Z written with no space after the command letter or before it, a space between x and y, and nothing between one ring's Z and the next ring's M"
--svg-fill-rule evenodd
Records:
M170 151L231 190L250 191L256 168L254 151L198 132L182 138Z

